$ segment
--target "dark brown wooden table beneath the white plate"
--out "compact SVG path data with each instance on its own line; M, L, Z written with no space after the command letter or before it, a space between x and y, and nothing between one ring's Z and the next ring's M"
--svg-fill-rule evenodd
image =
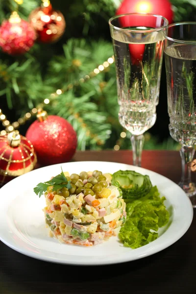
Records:
M131 164L130 151L77 152L73 161ZM178 181L177 151L144 151L144 168ZM175 244L124 264L76 267L51 264L0 243L0 294L194 294L196 293L196 217Z

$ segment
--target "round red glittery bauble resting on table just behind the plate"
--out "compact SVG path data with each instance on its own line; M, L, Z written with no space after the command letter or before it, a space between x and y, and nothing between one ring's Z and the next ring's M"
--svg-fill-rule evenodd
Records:
M73 126L65 119L47 115L39 110L38 120L26 132L36 151L38 163L44 165L68 162L77 147L77 137Z

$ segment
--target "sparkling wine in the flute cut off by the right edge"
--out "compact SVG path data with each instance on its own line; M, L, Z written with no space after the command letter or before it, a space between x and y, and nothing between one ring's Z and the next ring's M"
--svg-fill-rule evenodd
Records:
M165 62L170 134L191 147L196 144L196 45L167 47Z

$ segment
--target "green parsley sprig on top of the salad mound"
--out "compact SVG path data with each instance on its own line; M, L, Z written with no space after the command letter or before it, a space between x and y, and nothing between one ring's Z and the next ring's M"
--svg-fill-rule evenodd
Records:
M39 195L41 197L46 191L47 188L50 186L53 186L52 191L56 191L61 188L67 188L71 189L71 181L68 181L66 176L63 173L62 167L61 167L61 173L53 177L51 180L44 182L44 183L39 183L33 191L35 192L36 195Z

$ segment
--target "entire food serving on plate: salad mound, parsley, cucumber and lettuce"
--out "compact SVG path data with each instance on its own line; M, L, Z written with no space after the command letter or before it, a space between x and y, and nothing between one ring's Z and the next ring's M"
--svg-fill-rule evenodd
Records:
M138 248L157 239L169 221L166 198L134 171L62 171L34 192L45 195L49 236L61 243L93 246L118 235L124 246Z

